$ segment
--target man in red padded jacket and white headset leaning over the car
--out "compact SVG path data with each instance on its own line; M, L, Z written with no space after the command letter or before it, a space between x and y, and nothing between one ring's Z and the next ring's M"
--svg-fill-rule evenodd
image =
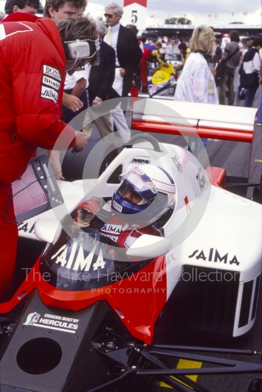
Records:
M61 92L65 71L73 73L83 62L94 62L98 47L95 24L87 18L67 18L57 27L47 18L23 25L3 23L1 37L0 301L4 301L12 291L18 239L11 183L24 173L37 147L73 147L80 152L86 146L83 133L60 121ZM77 39L92 40L83 43L90 54L81 60Z

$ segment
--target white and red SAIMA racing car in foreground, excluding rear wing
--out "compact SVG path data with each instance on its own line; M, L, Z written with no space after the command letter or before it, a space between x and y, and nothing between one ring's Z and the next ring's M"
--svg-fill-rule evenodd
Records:
M90 160L100 148L98 143ZM122 228L108 221L113 207L121 213L111 199L122 173L132 168L143 173L148 165L163 171L163 181L170 178L175 193L153 221L158 235L133 235L123 248L116 242ZM166 345L174 323L230 337L253 326L262 205L223 189L224 170L204 169L191 152L149 135L135 136L101 167L96 178L63 182L64 202L54 196L54 183L48 184L57 206L19 224L27 241L47 245L26 268L12 299L0 304L0 330L7 335L1 345L1 392L114 390L116 383L151 376L178 391L208 392L184 375L262 372L262 365L187 352L212 349ZM154 181L145 180L141 189L156 193ZM152 205L163 202L161 186L157 194ZM104 234L92 225L74 227L76 207L93 196L105 201L97 213ZM133 231L138 231L140 214L135 215ZM170 368L170 357L209 365Z

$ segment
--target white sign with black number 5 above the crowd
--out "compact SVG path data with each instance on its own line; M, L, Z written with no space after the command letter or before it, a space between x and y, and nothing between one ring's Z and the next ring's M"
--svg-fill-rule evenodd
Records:
M138 30L145 30L146 0L124 0L123 10L121 25L136 25Z

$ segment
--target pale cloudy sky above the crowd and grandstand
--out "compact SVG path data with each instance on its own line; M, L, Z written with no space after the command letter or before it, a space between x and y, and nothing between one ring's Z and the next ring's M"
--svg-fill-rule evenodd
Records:
M89 1L86 12L95 19L103 17L104 6L112 0ZM123 6L123 0L115 0ZM262 24L262 0L147 0L146 25L163 25L165 19L186 17L192 25L220 25L243 22L245 25ZM45 1L42 1L45 3ZM0 10L4 10L5 0L0 0ZM164 7L163 7L164 4ZM164 8L164 9L163 9ZM244 15L244 13L246 13ZM209 16L211 15L211 16ZM215 17L216 15L216 17Z

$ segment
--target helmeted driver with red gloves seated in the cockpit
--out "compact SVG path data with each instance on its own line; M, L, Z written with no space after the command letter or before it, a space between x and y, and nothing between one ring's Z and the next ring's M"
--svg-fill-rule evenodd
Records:
M91 227L129 248L142 234L163 236L175 200L172 177L156 165L133 167L119 175L119 189L112 200L99 197L81 203L72 228ZM106 221L106 223L104 222Z

